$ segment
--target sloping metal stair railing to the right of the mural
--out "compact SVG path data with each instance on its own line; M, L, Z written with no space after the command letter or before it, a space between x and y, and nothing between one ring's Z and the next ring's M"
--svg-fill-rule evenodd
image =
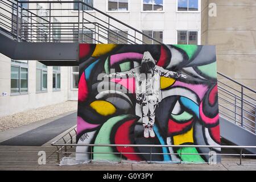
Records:
M256 134L256 91L218 72L220 115Z

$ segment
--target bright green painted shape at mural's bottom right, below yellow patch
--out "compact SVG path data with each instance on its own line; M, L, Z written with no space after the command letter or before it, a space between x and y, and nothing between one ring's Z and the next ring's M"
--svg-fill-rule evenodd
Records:
M180 156L180 148L177 150L177 153ZM183 147L181 151L181 160L183 162L189 162L189 163L205 163L204 159L201 158L200 155L185 155L185 154L198 154L195 147Z

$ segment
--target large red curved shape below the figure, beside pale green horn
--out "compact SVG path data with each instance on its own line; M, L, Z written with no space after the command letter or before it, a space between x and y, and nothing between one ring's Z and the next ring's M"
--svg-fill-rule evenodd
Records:
M131 143L130 139L130 128L136 122L136 119L131 119L126 121L121 126L118 127L115 133L115 144L134 144ZM119 152L135 152L134 147L117 147ZM142 160L137 154L122 154L128 160Z

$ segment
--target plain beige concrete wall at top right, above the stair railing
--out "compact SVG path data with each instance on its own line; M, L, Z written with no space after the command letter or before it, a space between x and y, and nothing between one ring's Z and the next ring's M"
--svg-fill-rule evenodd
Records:
M208 16L209 3L216 17ZM201 43L217 46L217 70L256 89L256 1L205 0L201 10Z

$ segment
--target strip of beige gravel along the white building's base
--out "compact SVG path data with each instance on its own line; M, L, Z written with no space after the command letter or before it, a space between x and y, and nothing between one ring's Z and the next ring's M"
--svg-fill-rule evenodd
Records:
M0 131L13 129L18 126L38 122L42 119L55 117L56 115L76 110L77 101L66 101L54 105L39 107L38 109L27 110L22 113L7 115L5 117L0 117Z

